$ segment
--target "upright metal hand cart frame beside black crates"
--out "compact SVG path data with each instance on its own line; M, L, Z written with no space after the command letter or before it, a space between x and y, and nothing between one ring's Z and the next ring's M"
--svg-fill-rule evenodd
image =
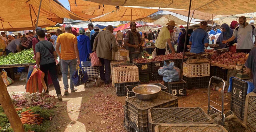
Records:
M223 88L222 88L222 104L221 104L221 105L217 104L216 102L214 102L214 101L212 101L212 100L210 99L210 86L211 86L212 78L214 78L214 79L216 79L216 80L219 80L219 81L223 81L223 83L224 83L224 84L223 84ZM223 80L223 79L220 78L220 77L215 77L215 76L213 76L213 77L210 78L209 85L208 85L208 112L207 112L207 113L210 114L210 108L214 109L214 110L215 110L215 111L214 111L215 113L217 113L216 111L220 112L220 113L221 113L221 120L222 120L222 123L223 123L222 125L224 125L224 122L225 122L225 114L224 114L224 89L225 89L225 85L226 85L225 80ZM211 105L210 105L210 102L213 102L213 103L215 103L215 104L221 106L221 111L218 110L217 108L211 106ZM218 113L217 113L217 114L218 114Z

